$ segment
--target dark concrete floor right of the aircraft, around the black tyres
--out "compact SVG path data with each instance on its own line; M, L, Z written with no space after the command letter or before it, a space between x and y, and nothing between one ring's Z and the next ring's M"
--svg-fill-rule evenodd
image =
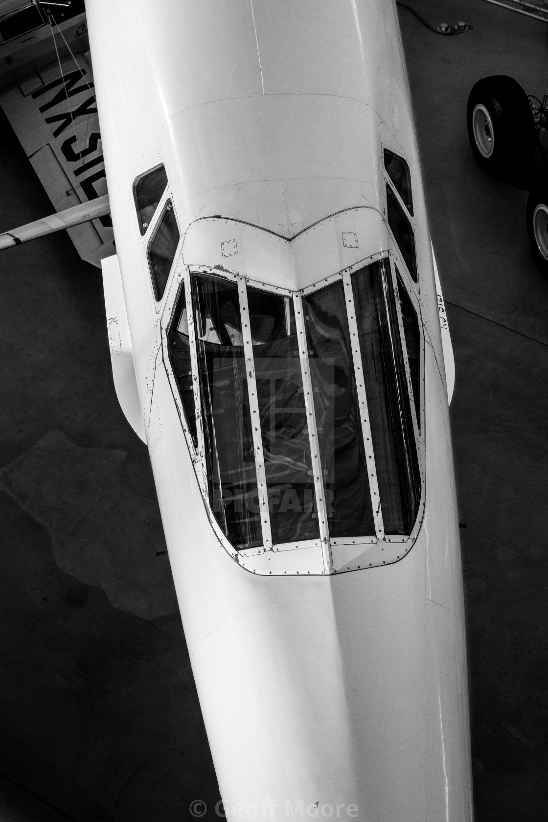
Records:
M548 818L548 277L532 261L527 191L472 159L467 95L509 74L548 92L548 26L485 2L400 10L432 240L453 338L451 422L467 604L478 822Z

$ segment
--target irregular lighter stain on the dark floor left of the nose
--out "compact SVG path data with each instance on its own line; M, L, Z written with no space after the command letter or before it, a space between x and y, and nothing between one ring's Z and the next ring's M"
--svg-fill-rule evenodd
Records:
M158 508L122 487L126 457L50 431L0 471L0 488L48 530L62 570L98 585L113 607L155 619L177 612L177 599ZM86 596L72 585L67 604L82 607Z

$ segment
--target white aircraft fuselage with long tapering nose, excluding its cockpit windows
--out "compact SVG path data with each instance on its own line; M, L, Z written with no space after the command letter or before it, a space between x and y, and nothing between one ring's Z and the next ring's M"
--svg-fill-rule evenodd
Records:
M146 438L225 808L250 819L330 807L362 822L472 820L449 409L394 2L87 0L86 9ZM417 526L403 558L380 541L331 545L332 567L325 545L234 561L164 364L177 288L190 268L297 293L397 255L385 147L412 178L419 276L409 288L423 335ZM181 240L157 302L132 187L160 163ZM228 241L237 253L223 256Z

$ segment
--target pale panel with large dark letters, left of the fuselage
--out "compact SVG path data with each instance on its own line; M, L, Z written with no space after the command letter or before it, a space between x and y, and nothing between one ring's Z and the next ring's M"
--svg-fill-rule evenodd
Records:
M26 78L22 90L19 84L0 94L0 105L57 211L107 193L91 67L81 54L76 60L77 66L72 58L62 59L64 82L53 62L32 85ZM109 217L68 234L81 259L94 266L113 253Z

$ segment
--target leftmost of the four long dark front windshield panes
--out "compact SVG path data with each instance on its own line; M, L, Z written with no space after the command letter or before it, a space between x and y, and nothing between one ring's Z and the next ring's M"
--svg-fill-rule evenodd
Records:
M237 284L192 278L211 508L237 549L263 538Z

